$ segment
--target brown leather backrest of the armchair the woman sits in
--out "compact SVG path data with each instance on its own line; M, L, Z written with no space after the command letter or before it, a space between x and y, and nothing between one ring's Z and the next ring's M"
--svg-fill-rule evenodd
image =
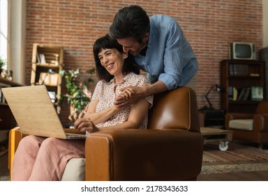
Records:
M149 129L183 129L200 132L198 103L193 89L181 86L154 95Z

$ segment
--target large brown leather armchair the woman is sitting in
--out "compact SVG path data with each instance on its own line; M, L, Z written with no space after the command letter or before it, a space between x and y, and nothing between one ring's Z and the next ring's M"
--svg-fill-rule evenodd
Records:
M17 131L10 131L13 148ZM85 147L85 180L196 180L203 137L195 92L179 87L155 95L149 129L94 132Z

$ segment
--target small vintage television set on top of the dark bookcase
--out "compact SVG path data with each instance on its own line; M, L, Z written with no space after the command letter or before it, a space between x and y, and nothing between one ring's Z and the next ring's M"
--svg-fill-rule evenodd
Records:
M255 60L255 44L251 42L230 43L230 59Z

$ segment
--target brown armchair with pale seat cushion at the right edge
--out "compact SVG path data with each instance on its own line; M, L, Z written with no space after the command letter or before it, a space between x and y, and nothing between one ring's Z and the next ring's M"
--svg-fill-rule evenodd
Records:
M254 114L227 113L225 127L232 138L251 143L268 143L268 100L259 102Z

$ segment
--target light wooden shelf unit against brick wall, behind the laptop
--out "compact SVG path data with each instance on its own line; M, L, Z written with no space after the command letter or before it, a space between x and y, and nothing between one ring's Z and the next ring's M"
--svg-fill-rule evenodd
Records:
M34 43L32 54L31 85L44 84L52 102L57 105L61 100L61 72L64 66L64 48Z

